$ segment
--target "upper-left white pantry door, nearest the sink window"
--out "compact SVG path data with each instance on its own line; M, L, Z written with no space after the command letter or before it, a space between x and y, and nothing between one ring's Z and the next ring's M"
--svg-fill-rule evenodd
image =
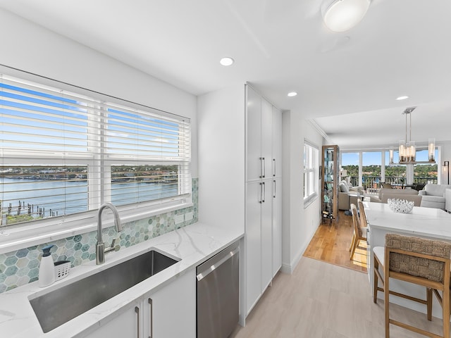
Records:
M246 181L259 180L264 171L261 159L261 96L249 86L246 108Z

